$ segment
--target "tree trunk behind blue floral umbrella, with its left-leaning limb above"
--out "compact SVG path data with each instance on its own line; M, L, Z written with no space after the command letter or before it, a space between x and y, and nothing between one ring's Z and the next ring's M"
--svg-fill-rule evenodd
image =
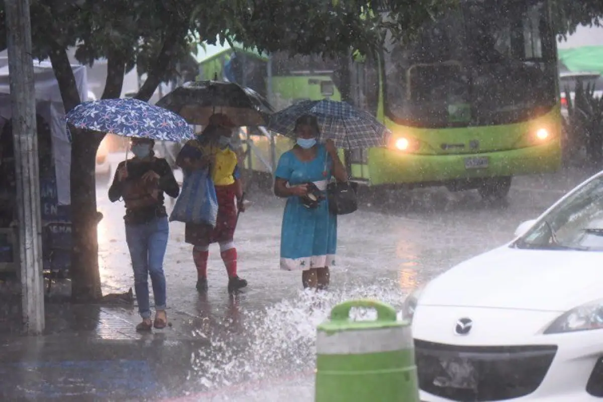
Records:
M80 94L65 49L55 43L50 60L65 110L69 111L80 104ZM102 297L96 236L95 159L103 136L80 130L72 130L71 134L71 297L75 302L89 302Z

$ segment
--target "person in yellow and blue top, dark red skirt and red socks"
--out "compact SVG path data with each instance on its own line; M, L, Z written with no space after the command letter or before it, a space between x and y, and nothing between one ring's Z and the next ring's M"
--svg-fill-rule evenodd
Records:
M185 242L193 245L193 259L197 267L197 290L207 291L207 258L209 245L218 243L226 272L229 292L247 286L247 281L236 272L237 253L234 242L237 213L244 211L242 184L238 157L230 145L236 126L226 115L217 113L197 139L183 146L177 165L185 174L210 166L218 198L218 218L215 228L207 224L186 224ZM236 199L236 202L235 202Z

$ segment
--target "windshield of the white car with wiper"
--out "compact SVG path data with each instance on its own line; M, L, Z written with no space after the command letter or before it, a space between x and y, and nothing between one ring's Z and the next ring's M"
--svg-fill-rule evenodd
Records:
M603 177L589 181L558 204L514 247L603 251Z

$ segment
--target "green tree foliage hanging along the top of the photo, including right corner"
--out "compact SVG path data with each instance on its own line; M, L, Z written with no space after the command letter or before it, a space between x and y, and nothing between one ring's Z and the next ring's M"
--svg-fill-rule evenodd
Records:
M118 54L127 68L148 72L166 38L169 49L162 80L177 74L191 46L216 37L259 51L290 54L371 54L384 30L397 40L412 37L425 20L459 0L32 0L34 56L48 57L53 44L77 45L82 63ZM0 4L0 46L5 45ZM578 24L599 24L603 2L552 0L557 32ZM194 46L193 46L194 48Z

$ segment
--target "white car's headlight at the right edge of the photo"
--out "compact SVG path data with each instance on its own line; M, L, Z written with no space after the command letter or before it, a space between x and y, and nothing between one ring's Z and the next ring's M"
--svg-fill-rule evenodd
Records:
M582 304L563 313L545 330L545 334L603 329L603 299Z

